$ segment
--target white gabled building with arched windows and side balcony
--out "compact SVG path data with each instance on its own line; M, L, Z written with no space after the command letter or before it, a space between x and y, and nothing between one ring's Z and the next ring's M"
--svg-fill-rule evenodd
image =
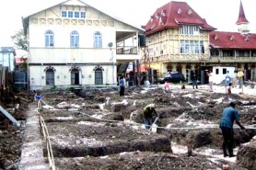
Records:
M30 88L116 85L126 71L119 68L140 59L143 29L80 0L64 1L22 21L29 40Z

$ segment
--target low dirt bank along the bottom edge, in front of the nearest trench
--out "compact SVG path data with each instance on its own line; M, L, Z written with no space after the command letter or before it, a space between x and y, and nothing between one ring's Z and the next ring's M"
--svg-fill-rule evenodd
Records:
M56 158L55 163L58 169L169 169L169 170L198 170L198 169L221 169L223 161L213 162L202 155L172 153L150 153L133 152L118 153L107 156L84 158ZM231 169L246 170L238 164L229 164Z

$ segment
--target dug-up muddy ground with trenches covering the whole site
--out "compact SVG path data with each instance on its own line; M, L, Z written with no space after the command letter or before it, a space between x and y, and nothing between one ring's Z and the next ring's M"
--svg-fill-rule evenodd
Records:
M20 109L13 114L24 120L25 97L31 101L32 95L17 96ZM227 96L177 85L169 91L134 87L126 89L125 96L116 89L41 91L41 99L57 169L216 169L224 164L232 169L253 168L254 152L239 150L237 163L216 155L222 155L217 128L222 109L236 101L241 122L254 126L255 96ZM156 104L160 115L157 132L145 130L142 124L143 108L150 103ZM0 169L15 169L22 129L6 130L1 120ZM250 142L256 134L254 130L234 132L234 147ZM184 151L177 152L177 146ZM208 150L213 152L204 154ZM243 159L244 154L249 158Z

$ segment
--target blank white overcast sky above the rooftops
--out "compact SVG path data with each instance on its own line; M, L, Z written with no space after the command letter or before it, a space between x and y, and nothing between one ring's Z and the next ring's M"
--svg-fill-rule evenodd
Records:
M83 0L90 6L113 17L141 27L147 23L158 7L171 0ZM176 0L185 1L207 23L222 31L237 31L240 0ZM250 33L256 33L256 1L241 0L245 16L250 22ZM26 17L45 7L63 2L61 0L4 0L0 10L0 46L13 46L10 36L22 28L21 17Z

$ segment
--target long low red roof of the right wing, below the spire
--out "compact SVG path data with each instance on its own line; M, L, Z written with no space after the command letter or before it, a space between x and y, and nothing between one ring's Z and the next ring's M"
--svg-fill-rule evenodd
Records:
M239 32L210 32L210 47L214 49L255 50L256 34Z

